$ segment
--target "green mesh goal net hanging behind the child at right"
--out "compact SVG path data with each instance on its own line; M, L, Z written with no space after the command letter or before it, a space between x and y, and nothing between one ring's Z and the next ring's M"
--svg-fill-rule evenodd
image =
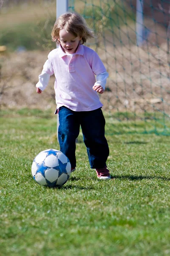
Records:
M101 101L108 122L119 123L114 133L170 135L169 0L69 0L68 5L96 35L87 46L109 73Z

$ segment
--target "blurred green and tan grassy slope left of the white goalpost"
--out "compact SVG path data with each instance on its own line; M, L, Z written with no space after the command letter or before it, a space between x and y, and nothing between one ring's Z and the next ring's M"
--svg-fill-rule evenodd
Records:
M27 7L13 6L0 12L0 45L8 51L53 49L51 30L56 20L56 2L45 6L29 3ZM8 18L7 18L8 17ZM12 20L12 23L9 22ZM21 48L21 49L22 49Z

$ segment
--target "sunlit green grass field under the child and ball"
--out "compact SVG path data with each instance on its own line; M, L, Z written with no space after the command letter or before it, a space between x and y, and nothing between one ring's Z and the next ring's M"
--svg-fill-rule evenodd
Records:
M49 189L31 164L59 149L56 116L4 111L0 129L0 256L170 255L170 137L107 135L112 179L102 181L80 134L77 171Z

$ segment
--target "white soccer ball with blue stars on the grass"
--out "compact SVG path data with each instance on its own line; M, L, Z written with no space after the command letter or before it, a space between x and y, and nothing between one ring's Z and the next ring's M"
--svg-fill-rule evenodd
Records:
M61 151L47 149L34 158L31 172L34 180L43 186L60 187L71 174L71 163Z

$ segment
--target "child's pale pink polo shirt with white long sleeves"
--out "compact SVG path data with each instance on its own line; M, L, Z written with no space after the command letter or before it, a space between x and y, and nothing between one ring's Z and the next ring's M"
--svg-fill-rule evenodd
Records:
M74 55L67 55L62 47L52 50L36 87L43 91L53 74L57 109L65 106L73 111L92 111L102 107L93 86L100 84L105 89L108 73L94 50L82 44Z

